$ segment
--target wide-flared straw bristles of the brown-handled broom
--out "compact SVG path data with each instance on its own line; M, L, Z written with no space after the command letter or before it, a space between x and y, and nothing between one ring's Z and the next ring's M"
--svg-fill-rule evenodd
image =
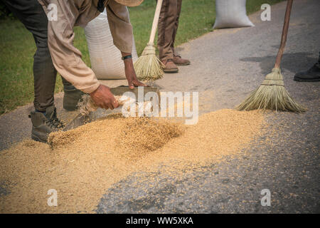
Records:
M279 68L273 68L262 84L254 90L240 105L238 110L276 110L302 113L306 108L299 105L284 88Z

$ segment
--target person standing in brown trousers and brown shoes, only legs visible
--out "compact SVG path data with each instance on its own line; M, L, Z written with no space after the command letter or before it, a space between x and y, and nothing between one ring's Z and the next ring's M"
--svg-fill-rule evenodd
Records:
M178 66L190 64L190 61L181 58L174 49L181 4L182 0L164 0L161 6L158 24L158 49L159 58L164 63L164 72L166 73L176 73Z

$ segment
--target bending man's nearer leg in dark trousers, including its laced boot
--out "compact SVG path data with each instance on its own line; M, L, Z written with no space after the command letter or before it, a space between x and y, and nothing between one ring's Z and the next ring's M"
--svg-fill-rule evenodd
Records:
M48 49L48 18L37 0L4 0L4 3L33 34L36 53L33 56L34 107L29 117L32 122L31 138L46 142L48 134L63 128L58 120L53 94L57 71Z

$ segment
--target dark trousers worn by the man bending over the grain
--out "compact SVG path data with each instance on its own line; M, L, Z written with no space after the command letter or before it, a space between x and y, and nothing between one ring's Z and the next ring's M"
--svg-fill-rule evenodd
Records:
M46 108L54 103L53 95L57 76L48 48L48 18L37 0L4 0L4 4L33 34L37 47L33 56L33 103L36 110L46 111ZM64 78L63 86L72 87Z

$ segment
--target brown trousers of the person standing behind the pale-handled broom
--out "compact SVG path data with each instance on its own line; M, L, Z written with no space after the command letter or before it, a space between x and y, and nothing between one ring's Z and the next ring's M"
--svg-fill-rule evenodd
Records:
M160 60L174 58L174 41L178 30L182 0L164 0L158 24L158 49Z

